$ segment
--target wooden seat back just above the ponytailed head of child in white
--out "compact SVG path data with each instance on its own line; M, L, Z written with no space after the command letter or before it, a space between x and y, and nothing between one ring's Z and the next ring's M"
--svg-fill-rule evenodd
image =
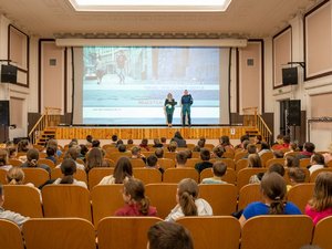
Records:
M195 168L168 168L164 173L164 183L179 183L184 178L191 178L198 183L199 174Z

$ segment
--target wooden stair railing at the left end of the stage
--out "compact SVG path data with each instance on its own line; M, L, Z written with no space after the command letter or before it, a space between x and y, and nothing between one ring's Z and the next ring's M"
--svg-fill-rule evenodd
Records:
M61 108L45 107L44 114L38 120L29 133L30 143L35 144L46 127L58 126L61 118Z

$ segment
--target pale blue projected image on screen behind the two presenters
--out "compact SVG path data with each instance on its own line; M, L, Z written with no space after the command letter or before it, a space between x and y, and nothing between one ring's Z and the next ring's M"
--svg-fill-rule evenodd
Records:
M219 123L218 48L83 48L84 124L166 124L164 102L172 93L194 98L193 124Z

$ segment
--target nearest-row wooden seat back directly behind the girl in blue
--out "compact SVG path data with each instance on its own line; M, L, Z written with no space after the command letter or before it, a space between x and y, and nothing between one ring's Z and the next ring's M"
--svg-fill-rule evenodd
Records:
M308 216L257 216L242 227L241 249L294 249L309 245L313 224Z

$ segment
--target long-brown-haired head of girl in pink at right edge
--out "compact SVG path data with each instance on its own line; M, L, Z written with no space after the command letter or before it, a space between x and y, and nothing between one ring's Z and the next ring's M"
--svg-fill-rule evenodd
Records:
M309 205L317 211L332 207L332 173L322 172L317 176L312 199Z

